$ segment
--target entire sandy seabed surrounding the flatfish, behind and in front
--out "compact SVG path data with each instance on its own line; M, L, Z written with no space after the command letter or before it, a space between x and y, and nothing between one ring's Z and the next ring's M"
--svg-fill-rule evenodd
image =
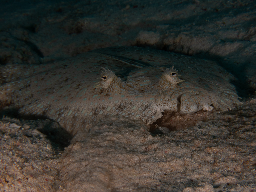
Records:
M231 112L169 115L172 132L113 117L71 136L3 111L2 191L256 191L255 2L23 0L0 9L1 65L150 46L219 62L244 101Z

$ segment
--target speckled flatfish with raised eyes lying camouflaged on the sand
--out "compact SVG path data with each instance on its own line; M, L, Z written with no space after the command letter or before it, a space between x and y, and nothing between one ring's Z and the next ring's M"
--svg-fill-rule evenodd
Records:
M112 115L150 124L164 110L193 113L210 111L213 106L233 109L240 104L228 82L232 75L214 62L138 47L97 52L102 54L84 53L44 65L2 67L0 106L14 103L21 115L47 117L74 133ZM154 67L131 68L127 60L121 62L120 57L117 60L111 55ZM178 70L170 68L173 65Z

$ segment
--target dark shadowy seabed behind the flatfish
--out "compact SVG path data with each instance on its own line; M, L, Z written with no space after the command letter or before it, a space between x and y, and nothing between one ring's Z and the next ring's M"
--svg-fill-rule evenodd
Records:
M256 6L239 0L7 2L2 63L40 63L109 46L154 46L219 59L256 89Z

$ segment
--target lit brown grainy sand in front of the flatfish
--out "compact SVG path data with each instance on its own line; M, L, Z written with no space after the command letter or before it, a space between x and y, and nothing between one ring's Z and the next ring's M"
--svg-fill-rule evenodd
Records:
M48 120L16 121L30 126L26 133L27 126L3 119L1 185L6 191L254 191L256 100L238 111L207 113L213 120L165 134L160 127L158 135L141 121L112 118L78 132L63 154L37 131Z

